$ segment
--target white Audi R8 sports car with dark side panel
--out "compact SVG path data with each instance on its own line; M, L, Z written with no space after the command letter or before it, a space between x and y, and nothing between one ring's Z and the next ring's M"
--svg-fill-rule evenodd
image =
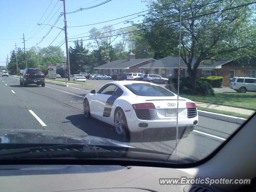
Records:
M111 124L118 134L149 128L176 128L177 95L150 82L115 81L84 98L84 116ZM178 130L191 132L198 123L196 104L179 97Z

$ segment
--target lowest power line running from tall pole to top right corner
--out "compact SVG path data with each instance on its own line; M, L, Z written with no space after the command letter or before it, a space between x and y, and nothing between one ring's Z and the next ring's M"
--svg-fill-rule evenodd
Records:
M228 11L228 10L232 10L232 9L236 9L236 8L240 8L240 7L245 7L245 6L248 6L248 5L251 5L251 4L255 4L255 3L256 3L256 2L251 2L251 3L247 3L247 4L242 4L242 5L239 5L239 6L235 6L235 7L232 7L232 8L227 8L227 9L224 9L224 10L218 10L218 11L214 11L214 12L210 12L210 13L205 13L205 14L202 14L202 15L198 15L198 16L193 16L193 17L190 17L190 18L182 19L182 21L190 20L190 19L194 19L194 18L198 18L198 17L210 15L210 14L215 14L215 13L218 13L218 12L220 12L220 11L221 11L221 12L224 12L224 11ZM132 32L147 30L147 29L156 28L156 27L160 27L160 26L164 26L164 25L168 25L168 24L173 24L173 23L177 23L177 22L180 22L180 21L168 22L168 23L165 23L165 24L157 25L157 26L152 26L152 27L148 27L148 28L142 28L142 29L133 30L133 31L130 31L130 32L124 32L124 33L120 33L120 34L114 34L114 35L110 35L110 36L104 36L104 37L98 37L98 38L91 38L91 39L82 39L82 41L96 40L96 39L102 39L102 38L107 38L107 37L118 36L118 35L122 35L122 34L128 34L128 33L132 33ZM73 41L68 41L68 42L74 42L74 40L73 40Z

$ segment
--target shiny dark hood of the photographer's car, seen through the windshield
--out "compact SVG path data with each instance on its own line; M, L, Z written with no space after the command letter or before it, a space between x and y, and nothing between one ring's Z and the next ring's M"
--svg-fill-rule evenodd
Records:
M106 146L132 147L123 142L89 136L83 134L69 134L49 130L1 129L1 143L40 143L40 144L91 144ZM133 147L132 147L133 148Z

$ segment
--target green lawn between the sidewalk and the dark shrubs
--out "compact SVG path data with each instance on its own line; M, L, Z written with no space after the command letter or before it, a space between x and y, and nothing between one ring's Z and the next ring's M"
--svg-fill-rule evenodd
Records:
M256 110L256 93L215 93L215 96L180 94L192 101Z

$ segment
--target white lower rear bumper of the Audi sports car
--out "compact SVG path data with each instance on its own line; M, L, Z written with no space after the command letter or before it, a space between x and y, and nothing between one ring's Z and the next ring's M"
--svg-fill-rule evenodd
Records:
M175 128L176 130L176 117L174 118L163 118L157 120L141 120L138 119L135 112L133 110L129 112L125 112L128 128L131 132L142 132L146 129L158 129L158 128L167 128L172 130ZM181 117L178 119L178 128L179 130L186 130L186 132L190 132L194 129L194 121L198 122L198 116L194 118L184 118ZM144 123L148 124L146 127L140 127L139 124Z

